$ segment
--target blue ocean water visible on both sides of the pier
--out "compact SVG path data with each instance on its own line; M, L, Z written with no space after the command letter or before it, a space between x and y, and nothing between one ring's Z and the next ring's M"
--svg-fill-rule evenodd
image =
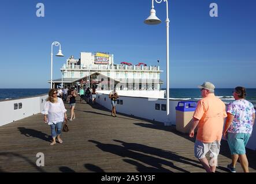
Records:
M228 104L235 100L232 96L232 90L233 89L215 89L215 95ZM46 94L48 92L49 89L0 89L0 99L30 97L34 95ZM169 95L170 99L179 101L198 101L202 98L199 89L170 89ZM246 99L252 102L256 107L256 89L246 89Z

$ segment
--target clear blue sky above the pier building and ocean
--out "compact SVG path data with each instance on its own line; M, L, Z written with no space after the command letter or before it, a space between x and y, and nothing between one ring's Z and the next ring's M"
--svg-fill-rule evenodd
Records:
M45 17L36 17L43 3ZM210 3L218 17L210 17ZM255 0L169 0L170 87L256 86ZM166 82L166 5L155 3L159 25L143 21L151 0L1 1L1 88L48 88L51 43L65 57L53 58L53 78L67 57L110 52L115 63L144 62L164 70ZM54 47L54 53L57 53ZM166 83L162 87L165 87Z

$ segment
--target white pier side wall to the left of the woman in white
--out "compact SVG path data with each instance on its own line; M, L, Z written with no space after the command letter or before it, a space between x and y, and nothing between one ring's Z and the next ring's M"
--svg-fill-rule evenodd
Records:
M0 126L21 120L25 117L40 113L43 110L45 99L48 95L38 97L13 99L0 102ZM43 101L42 101L43 99ZM21 109L14 110L14 104L22 103Z

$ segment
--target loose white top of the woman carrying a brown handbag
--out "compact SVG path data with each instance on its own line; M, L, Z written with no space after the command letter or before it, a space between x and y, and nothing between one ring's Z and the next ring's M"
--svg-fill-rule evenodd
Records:
M47 101L44 105L42 114L48 114L48 125L57 124L64 121L64 113L66 112L64 103L58 98L57 103Z

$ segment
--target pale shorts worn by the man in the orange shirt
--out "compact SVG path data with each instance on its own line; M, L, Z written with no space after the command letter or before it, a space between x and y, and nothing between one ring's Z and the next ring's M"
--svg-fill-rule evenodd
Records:
M195 157L198 159L205 158L207 152L210 151L210 158L217 159L220 153L220 141L214 141L213 143L203 143L202 141L195 141Z

